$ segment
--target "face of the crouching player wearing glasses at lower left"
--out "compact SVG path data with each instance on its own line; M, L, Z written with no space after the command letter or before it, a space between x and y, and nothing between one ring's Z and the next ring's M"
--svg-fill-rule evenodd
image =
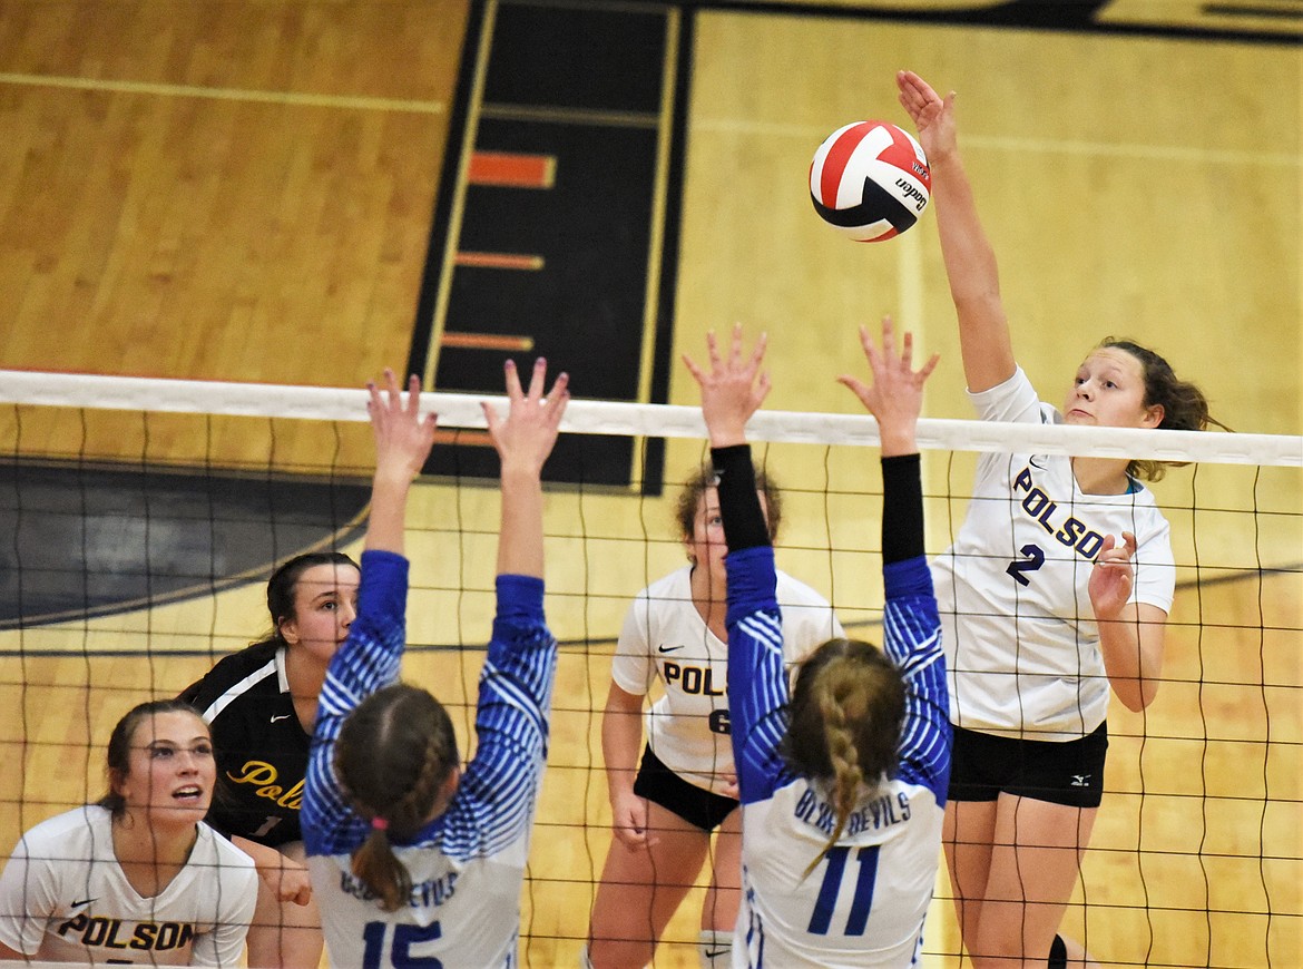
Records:
M132 735L126 775L117 793L150 824L194 824L212 802L218 765L208 725L185 711L142 718Z

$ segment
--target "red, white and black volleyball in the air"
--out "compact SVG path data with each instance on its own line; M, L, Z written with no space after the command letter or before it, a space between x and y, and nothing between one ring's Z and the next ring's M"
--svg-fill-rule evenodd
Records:
M857 242L899 236L919 221L930 198L923 146L887 121L838 128L810 163L814 211Z

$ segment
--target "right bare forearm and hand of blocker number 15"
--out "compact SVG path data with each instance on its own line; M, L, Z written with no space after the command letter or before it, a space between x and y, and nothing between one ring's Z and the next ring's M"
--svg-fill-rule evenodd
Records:
M562 414L569 401L569 376L562 374L543 396L547 361L534 361L529 391L521 391L516 365L507 361L507 417L483 405L489 436L502 461L502 529L498 574L543 577L543 464L552 453Z

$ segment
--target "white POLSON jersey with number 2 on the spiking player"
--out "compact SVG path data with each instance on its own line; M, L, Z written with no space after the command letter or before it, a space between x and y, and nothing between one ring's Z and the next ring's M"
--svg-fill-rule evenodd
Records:
M1022 367L969 397L986 421L1055 423ZM1131 602L1171 608L1170 529L1153 492L1087 495L1071 458L982 455L955 543L933 561L950 718L967 729L1076 740L1108 714L1109 680L1088 591L1105 535L1136 537Z

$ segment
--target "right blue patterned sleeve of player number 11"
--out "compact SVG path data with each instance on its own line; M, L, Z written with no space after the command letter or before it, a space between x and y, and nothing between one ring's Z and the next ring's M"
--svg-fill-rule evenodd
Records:
M941 651L941 619L924 556L889 563L882 647L900 668L906 718L898 776L923 784L945 806L950 784L950 698Z

